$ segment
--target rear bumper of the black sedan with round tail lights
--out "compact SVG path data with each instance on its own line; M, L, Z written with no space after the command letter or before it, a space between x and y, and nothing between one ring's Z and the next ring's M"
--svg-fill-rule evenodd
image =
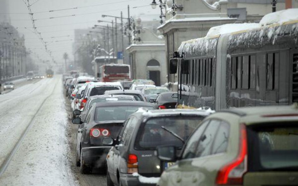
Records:
M82 148L82 156L86 164L103 167L111 146L91 146Z

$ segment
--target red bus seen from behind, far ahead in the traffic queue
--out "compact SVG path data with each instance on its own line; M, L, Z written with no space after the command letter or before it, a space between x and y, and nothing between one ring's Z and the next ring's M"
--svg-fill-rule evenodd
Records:
M117 82L130 80L130 65L108 64L99 67L100 82Z

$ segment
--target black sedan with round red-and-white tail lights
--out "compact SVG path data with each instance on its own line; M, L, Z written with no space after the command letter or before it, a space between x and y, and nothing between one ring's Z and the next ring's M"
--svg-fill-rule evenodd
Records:
M152 104L141 101L108 101L93 104L84 121L72 121L81 124L76 139L76 165L81 173L92 172L92 167L105 170L106 154L112 146L103 145L102 140L117 138L123 122L140 107L154 109ZM75 110L74 114L80 111Z

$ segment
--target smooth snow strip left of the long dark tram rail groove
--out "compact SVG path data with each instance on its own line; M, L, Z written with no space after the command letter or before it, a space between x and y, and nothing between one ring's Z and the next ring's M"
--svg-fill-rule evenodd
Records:
M54 80L26 84L0 96L0 164L19 140L36 110L50 95Z

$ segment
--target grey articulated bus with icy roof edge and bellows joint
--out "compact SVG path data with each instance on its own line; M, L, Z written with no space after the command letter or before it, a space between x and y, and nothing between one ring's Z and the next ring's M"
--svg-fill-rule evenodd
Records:
M295 16L293 9L283 13ZM257 26L236 26L246 30L222 25L210 30L226 33L182 42L169 65L169 73L178 76L178 108L220 110L298 102L298 20L266 22L278 17L272 14Z

